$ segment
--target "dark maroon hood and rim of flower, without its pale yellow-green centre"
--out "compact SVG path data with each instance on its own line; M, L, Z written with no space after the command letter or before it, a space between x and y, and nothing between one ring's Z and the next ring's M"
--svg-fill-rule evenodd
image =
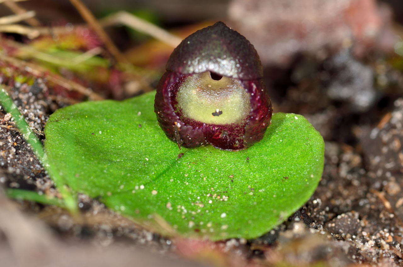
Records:
M187 148L212 144L224 150L241 150L263 138L270 124L272 105L262 83L262 66L256 50L242 35L221 22L199 30L174 50L167 69L158 83L154 108L158 122L170 140ZM236 84L242 95L247 92L249 99L243 98L247 101L243 119L236 123L206 123L186 117L183 109L178 108L177 94L185 81L198 79L199 76L192 75L206 71L210 71L209 77L214 80L230 77L222 81ZM215 95L211 97L216 98ZM195 106L199 104L204 108L203 103L195 103ZM221 114L219 111L209 116L214 118Z

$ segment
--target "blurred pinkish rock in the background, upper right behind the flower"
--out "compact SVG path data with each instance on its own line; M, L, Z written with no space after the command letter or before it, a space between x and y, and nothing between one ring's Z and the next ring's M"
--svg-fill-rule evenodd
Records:
M375 46L392 51L391 14L375 0L233 0L229 18L265 65L287 67L296 54L322 57L352 47L357 56Z

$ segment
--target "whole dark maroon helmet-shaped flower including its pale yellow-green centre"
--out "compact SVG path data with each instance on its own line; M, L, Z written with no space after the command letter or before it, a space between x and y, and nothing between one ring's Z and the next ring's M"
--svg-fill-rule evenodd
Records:
M256 50L222 22L175 48L154 107L168 138L187 148L247 148L263 138L272 116Z

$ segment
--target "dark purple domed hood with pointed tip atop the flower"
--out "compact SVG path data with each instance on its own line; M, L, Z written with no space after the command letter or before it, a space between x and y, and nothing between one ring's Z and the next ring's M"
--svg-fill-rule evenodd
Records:
M258 52L221 21L185 38L172 52L166 69L182 74L212 71L242 80L263 77Z

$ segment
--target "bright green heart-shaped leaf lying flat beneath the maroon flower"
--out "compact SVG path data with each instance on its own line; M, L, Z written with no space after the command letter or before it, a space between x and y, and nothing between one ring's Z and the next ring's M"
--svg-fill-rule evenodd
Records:
M50 164L73 190L138 223L212 240L264 234L318 185L324 142L301 115L274 114L264 139L246 150L179 149L153 104L148 93L56 111L45 131Z

